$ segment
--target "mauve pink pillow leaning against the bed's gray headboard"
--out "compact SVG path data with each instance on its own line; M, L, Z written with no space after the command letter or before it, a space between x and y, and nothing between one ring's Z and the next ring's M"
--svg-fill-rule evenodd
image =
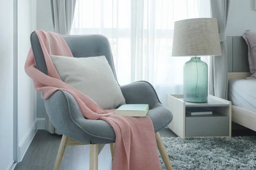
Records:
M248 59L252 74L250 78L256 78L256 32L246 30L244 31L243 38L248 45Z

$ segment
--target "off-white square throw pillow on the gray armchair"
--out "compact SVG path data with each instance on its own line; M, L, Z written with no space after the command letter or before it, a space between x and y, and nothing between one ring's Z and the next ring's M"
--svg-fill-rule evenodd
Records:
M64 57L50 55L63 82L86 94L103 109L125 104L105 56Z

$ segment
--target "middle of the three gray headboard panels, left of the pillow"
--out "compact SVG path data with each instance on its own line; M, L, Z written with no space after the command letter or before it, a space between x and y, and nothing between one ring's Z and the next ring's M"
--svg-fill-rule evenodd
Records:
M242 37L233 37L233 72L243 72Z

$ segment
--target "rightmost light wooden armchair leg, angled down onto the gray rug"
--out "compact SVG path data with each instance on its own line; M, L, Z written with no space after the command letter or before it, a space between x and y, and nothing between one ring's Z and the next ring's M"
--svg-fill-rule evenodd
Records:
M166 166L166 169L167 170L173 170L171 161L169 159L169 156L166 153L166 149L163 145L163 141L161 139L161 136L160 136L159 132L156 133L156 140L157 140L157 148L160 152L160 155L162 156L162 159L163 159L163 162Z

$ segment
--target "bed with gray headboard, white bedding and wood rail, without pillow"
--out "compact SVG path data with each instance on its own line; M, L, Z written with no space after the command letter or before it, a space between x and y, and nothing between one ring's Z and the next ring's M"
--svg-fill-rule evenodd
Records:
M243 37L227 36L228 100L232 121L256 131L256 79L249 72L248 48Z

